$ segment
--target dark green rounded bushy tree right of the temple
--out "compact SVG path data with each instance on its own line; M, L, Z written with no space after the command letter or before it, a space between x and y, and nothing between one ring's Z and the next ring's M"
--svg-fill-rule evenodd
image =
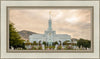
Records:
M85 40L85 39L80 39L77 41L77 46L80 48L81 46L82 47L85 47L86 49L87 48L90 48L91 47L91 41L90 40Z

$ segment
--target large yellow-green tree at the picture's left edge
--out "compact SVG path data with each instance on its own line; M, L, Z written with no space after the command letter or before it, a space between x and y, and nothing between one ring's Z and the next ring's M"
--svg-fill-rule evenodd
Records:
M25 48L24 40L21 40L13 23L9 24L9 48L11 48L11 46L14 47L14 49L18 47Z

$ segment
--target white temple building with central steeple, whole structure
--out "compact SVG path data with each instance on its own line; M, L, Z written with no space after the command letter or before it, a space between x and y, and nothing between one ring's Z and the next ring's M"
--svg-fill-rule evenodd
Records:
M44 34L32 34L29 36L29 41L33 43L33 41L41 43L43 41L47 42L49 46L52 46L53 42L58 42L61 41L61 44L63 44L64 41L68 40L71 42L71 36L68 34L56 34L56 31L52 30L52 20L51 20L51 15L48 20L48 29L44 32Z

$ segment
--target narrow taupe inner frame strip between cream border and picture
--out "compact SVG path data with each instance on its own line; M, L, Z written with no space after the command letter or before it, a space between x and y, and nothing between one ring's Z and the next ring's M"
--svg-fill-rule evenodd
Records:
M37 9L53 9L53 8L61 8L61 9L66 9L66 8L70 8L70 9L74 9L74 8L76 8L76 9L81 9L81 8L91 8L91 10L92 10L92 18L91 18L91 24L92 24L92 27L91 27L91 29L92 29L92 31L91 31L91 37L92 37L92 39L91 39L91 50L14 50L14 51L12 51L12 50L9 50L9 9L17 9L17 8L20 8L20 9L26 9L26 8L29 8L29 9L35 9L35 8L37 8ZM28 7L25 7L25 6L7 6L7 52L8 53L93 53L94 51L94 49L93 49L93 47L94 47L94 45L92 44L93 43L93 37L94 37L94 35L93 35L93 33L94 33L94 31L93 31L93 29L94 29L94 27L93 27L93 22L94 22L94 8L93 8L93 6L81 6L81 7L79 7L79 6L48 6L48 7L46 7L46 6L28 6ZM27 52L28 51L28 52Z

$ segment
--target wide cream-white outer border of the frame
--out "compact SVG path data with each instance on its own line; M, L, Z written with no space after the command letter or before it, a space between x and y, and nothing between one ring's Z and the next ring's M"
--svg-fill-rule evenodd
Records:
M6 53L6 6L94 6L94 53ZM99 1L2 1L2 58L99 58Z

